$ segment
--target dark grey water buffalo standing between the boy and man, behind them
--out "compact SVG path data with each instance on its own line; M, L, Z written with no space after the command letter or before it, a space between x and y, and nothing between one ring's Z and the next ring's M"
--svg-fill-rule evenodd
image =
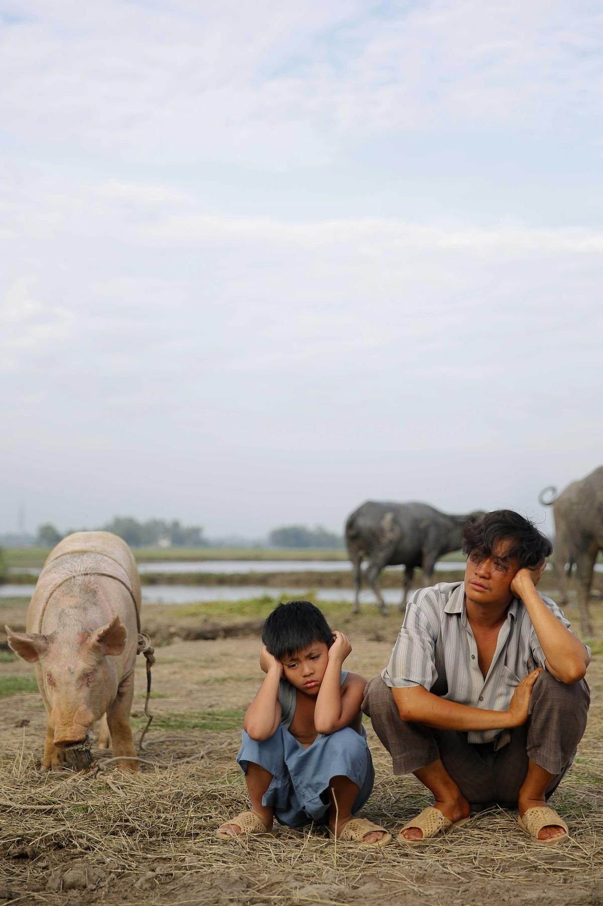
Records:
M377 595L382 613L386 605L378 587L378 575L384 566L404 564L403 597L400 610L407 604L407 593L417 566L427 580L434 573L436 560L442 554L457 551L463 544L463 529L468 519L481 519L476 510L465 516L448 516L434 506L410 502L378 503L373 500L359 506L346 521L346 545L354 567L356 600L353 613L359 612L362 581L361 564L368 558L366 578Z

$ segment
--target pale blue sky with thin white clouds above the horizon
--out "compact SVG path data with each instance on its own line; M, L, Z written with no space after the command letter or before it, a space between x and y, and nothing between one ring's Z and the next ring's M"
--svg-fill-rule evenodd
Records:
M603 7L0 0L0 532L603 459Z

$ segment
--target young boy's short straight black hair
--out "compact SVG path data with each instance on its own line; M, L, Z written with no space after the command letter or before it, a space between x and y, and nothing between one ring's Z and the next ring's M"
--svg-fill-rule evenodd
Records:
M331 637L329 623L309 601L279 604L263 623L262 641L277 660L310 648L315 641L324 641L330 648Z

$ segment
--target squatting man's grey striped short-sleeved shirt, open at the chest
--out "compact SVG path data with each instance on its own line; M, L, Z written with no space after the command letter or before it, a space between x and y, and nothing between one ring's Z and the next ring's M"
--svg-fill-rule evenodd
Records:
M570 622L560 607L543 594L540 596L569 628ZM435 695L461 705L503 711L509 707L522 679L536 667L544 667L544 660L528 612L521 600L513 598L484 679L465 611L464 583L439 583L419 589L410 598L388 666L381 676L392 688L424 686ZM467 734L468 742L494 742L496 749L506 745L510 738L506 729L471 730Z

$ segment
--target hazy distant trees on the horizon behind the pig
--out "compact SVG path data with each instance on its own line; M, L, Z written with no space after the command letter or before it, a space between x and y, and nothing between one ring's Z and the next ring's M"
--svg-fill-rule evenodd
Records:
M165 519L148 519L139 522L133 516L115 516L107 525L102 525L104 532L113 532L131 547L205 547L206 539L200 525L182 525L177 519L167 522ZM65 535L70 535L72 529L62 535L54 525L46 523L38 529L38 542L45 547L58 545Z

